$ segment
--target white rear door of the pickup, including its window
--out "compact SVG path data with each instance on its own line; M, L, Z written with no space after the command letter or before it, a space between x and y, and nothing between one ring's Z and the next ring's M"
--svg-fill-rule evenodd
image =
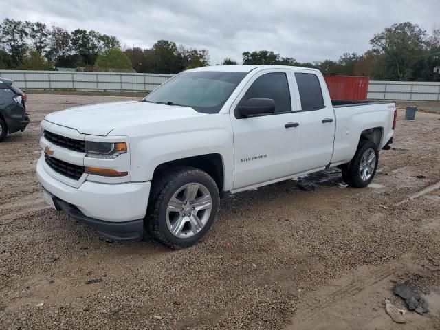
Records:
M294 69L292 78L300 99L301 136L298 173L322 168L330 163L333 153L336 119L331 104L325 104L322 75L314 70Z

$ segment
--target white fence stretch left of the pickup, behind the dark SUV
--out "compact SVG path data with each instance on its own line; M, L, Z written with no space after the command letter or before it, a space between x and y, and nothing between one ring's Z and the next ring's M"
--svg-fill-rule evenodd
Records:
M152 91L172 74L0 70L24 90Z

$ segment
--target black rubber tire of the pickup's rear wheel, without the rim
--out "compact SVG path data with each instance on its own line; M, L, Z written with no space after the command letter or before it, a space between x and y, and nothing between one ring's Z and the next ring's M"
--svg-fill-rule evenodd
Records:
M375 160L372 164L374 164L374 169L371 175L369 175L368 178L363 178L361 176L360 170L362 165L362 157L364 157L364 154L366 151L373 150L375 155ZM355 188L364 188L368 186L371 181L373 180L376 170L377 170L377 164L379 163L379 151L377 151L377 146L373 142L369 140L361 140L359 142L358 149L356 150L356 153L351 159L351 162L348 164L344 164L342 166L342 179L344 179L345 183L348 184L351 187Z

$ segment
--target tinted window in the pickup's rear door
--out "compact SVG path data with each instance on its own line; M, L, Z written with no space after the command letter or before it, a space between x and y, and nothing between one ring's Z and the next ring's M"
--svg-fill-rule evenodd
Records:
M300 91L301 109L303 111L318 110L324 107L322 89L316 74L295 74Z

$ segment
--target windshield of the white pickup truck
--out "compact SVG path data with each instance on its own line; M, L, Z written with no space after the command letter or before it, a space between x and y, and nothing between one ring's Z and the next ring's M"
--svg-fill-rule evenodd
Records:
M247 72L182 72L144 98L144 102L192 107L218 113Z

